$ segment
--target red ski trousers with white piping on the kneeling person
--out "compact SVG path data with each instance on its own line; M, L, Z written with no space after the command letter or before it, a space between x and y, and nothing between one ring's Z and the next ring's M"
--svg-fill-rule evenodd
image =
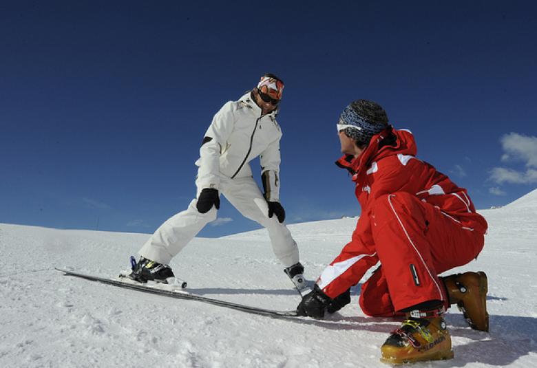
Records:
M472 261L484 237L409 193L372 203L372 238L381 267L362 285L360 306L369 316L393 316L425 301L449 307L441 272Z

